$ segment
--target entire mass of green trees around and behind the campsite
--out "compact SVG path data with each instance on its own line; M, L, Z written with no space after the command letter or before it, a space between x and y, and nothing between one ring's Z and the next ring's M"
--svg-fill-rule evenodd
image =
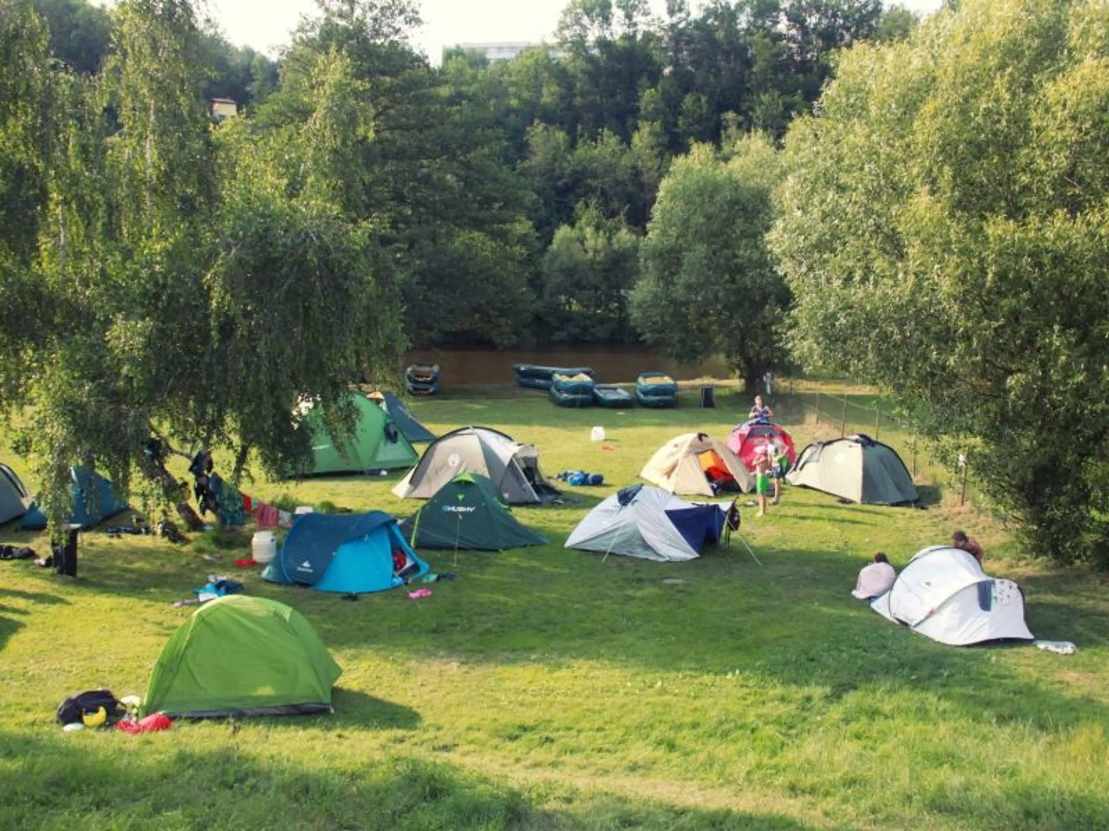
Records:
M184 445L304 454L291 402L409 346L642 340L875 383L1109 564L1102 3L571 0L440 68L415 2L317 6L271 60L189 0L0 2L0 398L54 515L78 460L173 501Z

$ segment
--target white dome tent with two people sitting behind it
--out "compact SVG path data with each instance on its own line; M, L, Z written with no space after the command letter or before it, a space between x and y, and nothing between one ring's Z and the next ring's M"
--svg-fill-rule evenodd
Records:
M1032 639L1020 587L990 577L970 554L946 545L918 552L871 608L949 646Z

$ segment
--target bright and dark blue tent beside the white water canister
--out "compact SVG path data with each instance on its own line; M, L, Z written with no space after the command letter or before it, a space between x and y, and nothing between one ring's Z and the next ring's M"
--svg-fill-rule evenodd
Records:
M427 574L384 511L365 514L302 514L281 552L262 573L265 579L319 592L384 592Z

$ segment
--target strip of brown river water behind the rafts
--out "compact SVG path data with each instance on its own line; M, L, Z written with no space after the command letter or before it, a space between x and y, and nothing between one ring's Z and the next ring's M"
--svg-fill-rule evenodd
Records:
M512 383L513 363L538 363L545 367L591 367L601 383L632 382L640 372L665 372L675 381L698 378L730 378L721 359L702 363L678 363L635 347L582 347L538 350L492 349L434 350L409 352L405 363L435 360L442 368L445 384Z

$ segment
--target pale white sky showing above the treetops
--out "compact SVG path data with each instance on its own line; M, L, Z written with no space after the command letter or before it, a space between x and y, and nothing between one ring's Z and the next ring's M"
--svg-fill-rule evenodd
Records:
M942 0L901 0L909 9L930 12ZM423 29L413 41L433 63L445 45L487 41L553 41L559 14L568 0L423 0ZM273 52L289 40L301 16L315 11L313 0L206 0L224 35L237 45ZM203 6L203 0L197 3ZM662 16L665 0L651 0ZM694 8L698 3L693 3Z

